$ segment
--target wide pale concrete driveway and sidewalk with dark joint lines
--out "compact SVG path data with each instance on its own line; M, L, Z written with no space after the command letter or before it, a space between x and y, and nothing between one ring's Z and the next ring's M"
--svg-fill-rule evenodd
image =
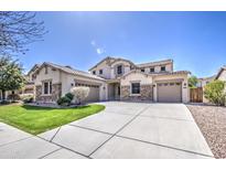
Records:
M36 158L213 158L202 132L183 104L108 102L99 114L29 137L13 158L25 156L22 145L36 148ZM28 138L28 139L26 139ZM1 132L0 132L1 141ZM17 142L13 142L17 144ZM10 148L11 145L11 148ZM0 144L0 158L17 148ZM24 149L28 151L32 149ZM43 148L43 149L42 149ZM47 150L47 151L44 151ZM4 151L2 156L2 151ZM33 156L33 155L32 155ZM22 157L23 158L23 157ZM34 157L32 157L34 158Z

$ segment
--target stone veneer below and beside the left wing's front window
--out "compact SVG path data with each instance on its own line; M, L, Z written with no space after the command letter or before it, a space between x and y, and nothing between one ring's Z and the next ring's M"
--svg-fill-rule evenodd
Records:
M42 95L42 86L37 85L35 86L36 102L43 102L43 103L53 103L56 102L62 96L62 84L53 84L52 85L52 94L50 95Z

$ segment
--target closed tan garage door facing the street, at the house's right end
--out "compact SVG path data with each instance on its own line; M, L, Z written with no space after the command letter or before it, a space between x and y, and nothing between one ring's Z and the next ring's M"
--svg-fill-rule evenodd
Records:
M158 83L158 102L181 103L182 84L174 82Z

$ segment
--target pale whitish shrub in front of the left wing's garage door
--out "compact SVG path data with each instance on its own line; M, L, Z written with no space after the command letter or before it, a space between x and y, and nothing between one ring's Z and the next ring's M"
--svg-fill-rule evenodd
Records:
M74 95L75 99L77 100L78 104L80 104L82 102L84 102L86 99L86 97L89 94L89 87L73 87L71 89L71 93Z

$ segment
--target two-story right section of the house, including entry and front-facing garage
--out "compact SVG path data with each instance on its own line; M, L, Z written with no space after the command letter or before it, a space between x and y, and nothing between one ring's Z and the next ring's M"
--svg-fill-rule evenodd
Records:
M134 64L106 57L89 72L106 79L108 99L189 102L190 72L174 72L172 60Z

